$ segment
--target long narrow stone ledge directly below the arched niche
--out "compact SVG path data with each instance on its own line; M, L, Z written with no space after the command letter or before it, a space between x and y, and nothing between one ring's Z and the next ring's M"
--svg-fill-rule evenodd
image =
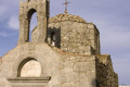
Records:
M16 77L6 78L10 83L48 83L51 77Z

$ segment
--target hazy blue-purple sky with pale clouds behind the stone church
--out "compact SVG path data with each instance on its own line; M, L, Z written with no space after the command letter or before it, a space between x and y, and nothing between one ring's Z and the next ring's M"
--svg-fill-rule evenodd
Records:
M50 16L64 13L65 0L51 0ZM68 13L96 25L102 54L110 54L119 84L130 85L130 0L68 0ZM0 57L17 45L20 0L0 0ZM36 24L34 14L31 27Z

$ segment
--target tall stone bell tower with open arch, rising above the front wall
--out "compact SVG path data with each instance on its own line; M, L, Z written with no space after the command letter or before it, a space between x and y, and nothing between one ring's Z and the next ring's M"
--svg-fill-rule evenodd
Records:
M35 12L37 12L38 22L36 42L46 41L49 20L49 0L21 0L18 44L29 42L30 20Z

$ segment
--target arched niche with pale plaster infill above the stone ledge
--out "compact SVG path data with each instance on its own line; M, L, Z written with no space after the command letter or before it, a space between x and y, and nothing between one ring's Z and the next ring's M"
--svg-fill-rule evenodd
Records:
M32 58L27 58L18 66L17 71L18 77L40 77L41 76L41 65Z

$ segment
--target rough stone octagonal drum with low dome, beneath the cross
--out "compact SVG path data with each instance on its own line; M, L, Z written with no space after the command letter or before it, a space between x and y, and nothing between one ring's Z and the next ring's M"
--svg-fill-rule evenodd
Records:
M100 53L99 30L94 24L86 23L79 16L58 14L50 18L48 28L48 36L50 37L51 32L55 32L57 35L56 44L65 52L79 54Z

